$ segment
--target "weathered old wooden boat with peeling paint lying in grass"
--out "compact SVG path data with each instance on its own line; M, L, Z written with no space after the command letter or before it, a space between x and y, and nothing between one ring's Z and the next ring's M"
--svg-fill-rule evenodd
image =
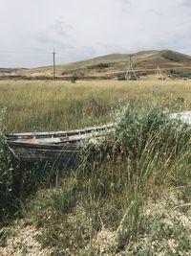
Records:
M91 140L114 128L106 126L68 131L5 134L11 152L23 162L49 162L65 167L75 166L78 151Z

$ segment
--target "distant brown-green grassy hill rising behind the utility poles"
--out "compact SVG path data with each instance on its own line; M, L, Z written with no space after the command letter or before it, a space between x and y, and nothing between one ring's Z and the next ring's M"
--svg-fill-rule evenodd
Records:
M70 64L57 65L56 76L60 78L115 78L125 73L128 66L127 54L112 54ZM141 75L154 73L159 66L169 72L170 69L191 70L191 56L171 50L142 51L132 55L133 66ZM52 77L53 67L40 67L28 70L18 70L15 75L27 77Z

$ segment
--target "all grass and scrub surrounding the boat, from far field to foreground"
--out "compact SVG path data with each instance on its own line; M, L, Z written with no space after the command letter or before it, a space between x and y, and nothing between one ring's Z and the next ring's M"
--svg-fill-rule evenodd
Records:
M2 138L0 252L28 255L9 239L31 227L33 255L190 255L191 129L168 116L190 110L189 81L22 82L1 81L1 129L117 127L70 171L27 170Z

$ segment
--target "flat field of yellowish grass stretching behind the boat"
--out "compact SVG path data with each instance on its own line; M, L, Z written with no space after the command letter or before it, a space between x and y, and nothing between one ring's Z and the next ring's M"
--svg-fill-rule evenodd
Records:
M0 81L6 132L83 128L137 100L191 109L190 81Z

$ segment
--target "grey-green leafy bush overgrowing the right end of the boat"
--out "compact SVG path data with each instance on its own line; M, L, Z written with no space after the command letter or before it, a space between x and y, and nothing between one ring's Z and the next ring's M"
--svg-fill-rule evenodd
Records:
M117 115L115 132L96 145L88 147L84 170L113 163L132 163L142 157L175 157L188 147L191 130L180 121L170 119L159 106L143 106L132 103ZM109 160L108 160L109 159Z

